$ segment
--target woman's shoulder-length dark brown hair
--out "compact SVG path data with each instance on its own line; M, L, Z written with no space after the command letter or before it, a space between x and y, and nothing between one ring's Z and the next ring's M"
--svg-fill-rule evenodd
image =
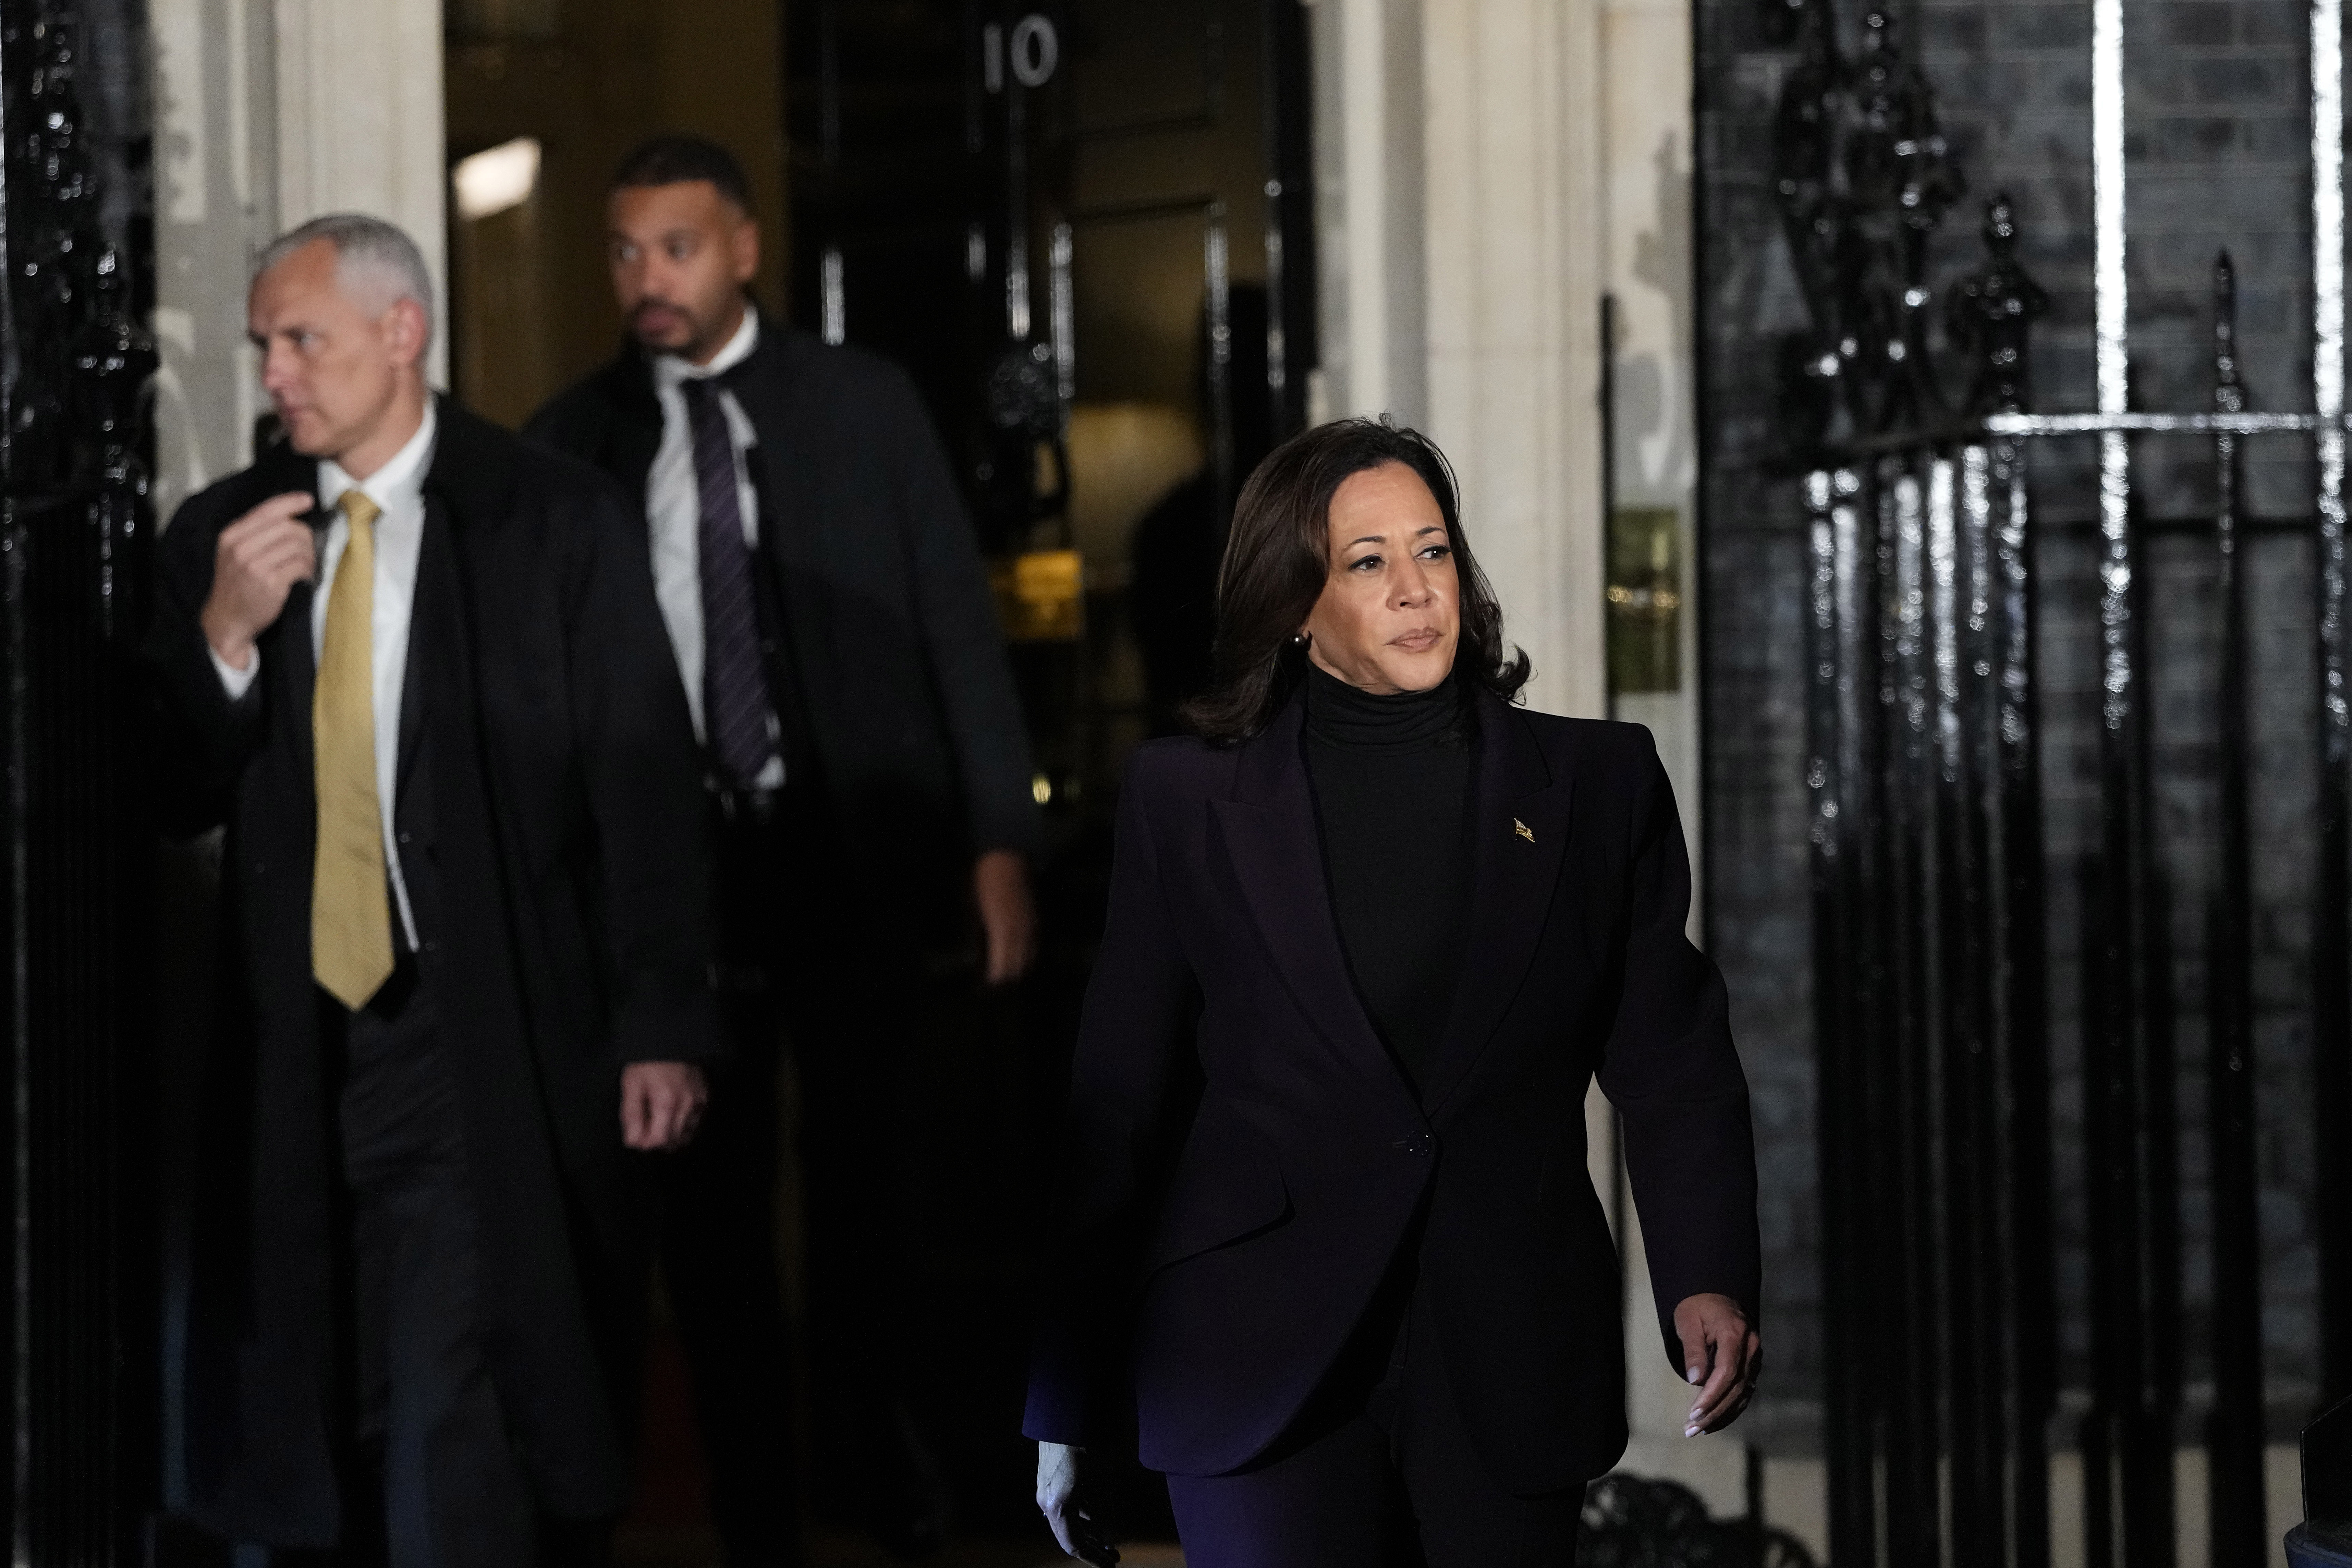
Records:
M1454 679L1505 703L1526 684L1526 654L1503 654L1503 607L1470 555L1454 468L1418 430L1385 418L1338 418L1294 435L1242 484L1216 578L1216 684L1183 705L1192 733L1240 745L1282 712L1305 675L1305 646L1291 637L1331 578L1331 496L1348 475L1404 463L1437 498L1461 581L1461 642Z

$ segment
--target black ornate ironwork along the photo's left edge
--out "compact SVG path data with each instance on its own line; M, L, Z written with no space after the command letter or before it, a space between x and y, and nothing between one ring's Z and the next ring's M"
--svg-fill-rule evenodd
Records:
M0 748L7 757L9 1561L134 1561L151 1502L143 1074L148 837L132 639L151 512L143 19L0 0ZM92 89L89 42L118 66Z

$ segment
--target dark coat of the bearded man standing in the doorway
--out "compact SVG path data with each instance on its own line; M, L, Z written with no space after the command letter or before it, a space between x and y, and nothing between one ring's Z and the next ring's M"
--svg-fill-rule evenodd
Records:
M760 320L727 376L760 433L760 557L776 583L816 752L851 832L946 825L962 849L1033 849L1030 748L955 475L915 383L887 360ZM661 447L635 343L524 435L595 463L642 505Z

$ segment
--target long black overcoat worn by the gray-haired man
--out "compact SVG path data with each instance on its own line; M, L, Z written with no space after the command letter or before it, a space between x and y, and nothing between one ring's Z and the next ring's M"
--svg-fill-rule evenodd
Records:
M278 1547L334 1544L348 1420L341 1173L310 978L310 588L261 635L261 677L235 703L198 611L221 529L315 482L310 458L275 447L193 496L158 548L146 644L165 820L228 830L186 1352L191 1512ZM447 402L395 811L419 978L459 1077L489 1368L541 1505L609 1514L628 1486L600 1352L626 1342L642 1258L619 1074L717 1048L701 766L635 508Z

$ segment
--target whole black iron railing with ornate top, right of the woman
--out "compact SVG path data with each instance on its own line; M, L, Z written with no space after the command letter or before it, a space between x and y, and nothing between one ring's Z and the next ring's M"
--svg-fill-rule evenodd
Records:
M2213 268L2209 409L2126 390L2124 0L2093 12L2098 407L2030 414L2042 292L2011 256L1945 301L1973 383L1929 364L1924 242L1959 195L1933 94L1882 7L1844 52L1830 0L1766 0L1804 38L1776 176L1813 331L1783 362L1783 440L1811 515L1811 797L1830 1556L2044 1563L2058 1408L2051 1279L2049 898L2039 795L2037 520L2046 437L2098 437L2098 846L2082 865L2091 1387L2079 1425L2086 1561L2171 1563L2183 1408L2180 1117L2171 889L2152 842L2145 520L2133 437L2209 435L2220 597L2216 896L2206 912L2206 1147L2216 1563L2270 1554L2253 1138L2253 978L2241 447L2317 447L2321 872L2312 1107L2321 1135L2324 1392L2352 1380L2352 712L2345 661L2343 14L2312 0L2312 409L2244 409L2227 254ZM2067 1154L2072 1159L2072 1152Z

